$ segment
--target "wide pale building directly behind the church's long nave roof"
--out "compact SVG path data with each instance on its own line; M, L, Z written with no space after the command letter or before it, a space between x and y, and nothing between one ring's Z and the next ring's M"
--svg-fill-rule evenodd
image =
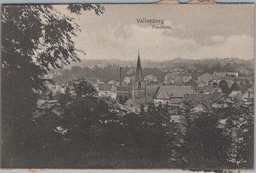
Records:
M175 82L175 80L182 80L183 82L188 82L192 79L191 74L180 71L173 71L172 73L168 73L164 77L164 81Z

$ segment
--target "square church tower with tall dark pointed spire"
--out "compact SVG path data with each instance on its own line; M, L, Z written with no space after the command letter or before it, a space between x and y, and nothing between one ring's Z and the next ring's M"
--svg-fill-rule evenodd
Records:
M146 87L146 80L144 80L142 77L142 68L139 52L135 80L132 82L132 98L134 98L134 100L139 104L146 103Z

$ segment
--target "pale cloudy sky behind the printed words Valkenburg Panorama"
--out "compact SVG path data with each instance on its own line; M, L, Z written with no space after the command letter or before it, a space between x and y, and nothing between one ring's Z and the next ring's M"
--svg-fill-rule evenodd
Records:
M81 59L165 61L177 57L254 57L252 4L104 4L97 16L76 17L81 32L74 38L86 52ZM65 6L58 6L63 13ZM161 19L172 29L152 29L137 19Z

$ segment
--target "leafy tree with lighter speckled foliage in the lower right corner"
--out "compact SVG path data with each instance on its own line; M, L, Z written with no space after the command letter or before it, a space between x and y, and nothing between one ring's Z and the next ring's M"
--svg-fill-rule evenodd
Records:
M228 149L228 160L236 167L253 168L253 99L241 106L231 104L226 109L227 125L225 129L232 139Z

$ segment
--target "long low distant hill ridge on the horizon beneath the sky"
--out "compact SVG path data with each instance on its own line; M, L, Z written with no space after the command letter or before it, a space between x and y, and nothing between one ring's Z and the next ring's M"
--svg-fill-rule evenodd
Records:
M148 66L150 68L177 68L178 66L188 66L188 68L193 68L194 64L207 64L208 66L214 66L217 62L220 62L222 66L225 66L225 64L230 63L237 63L237 64L246 64L246 66L250 66L253 68L254 65L254 59L239 59L236 57L228 57L225 59L220 58L211 58L211 59L183 59L183 58L175 58L168 61L148 61L148 59L141 59L141 64L143 68L147 68ZM72 66L100 66L104 67L107 64L117 64L119 66L136 66L137 61L124 61L121 59L81 59L81 62L71 62L65 68L71 68Z

